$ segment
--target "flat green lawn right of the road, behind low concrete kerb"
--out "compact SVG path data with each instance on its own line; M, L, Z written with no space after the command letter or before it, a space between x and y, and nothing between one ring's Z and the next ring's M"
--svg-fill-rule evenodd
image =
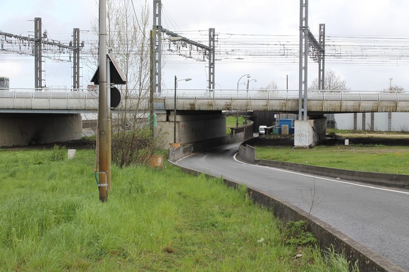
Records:
M256 157L335 169L409 174L409 147L385 145L317 145L312 149L293 149L288 146L256 147Z

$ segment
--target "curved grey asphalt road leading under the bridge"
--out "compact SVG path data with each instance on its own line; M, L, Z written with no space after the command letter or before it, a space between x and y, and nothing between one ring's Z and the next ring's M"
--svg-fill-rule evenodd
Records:
M327 179L234 160L238 145L194 154L177 165L287 200L409 271L409 191ZM315 193L315 197L312 194Z

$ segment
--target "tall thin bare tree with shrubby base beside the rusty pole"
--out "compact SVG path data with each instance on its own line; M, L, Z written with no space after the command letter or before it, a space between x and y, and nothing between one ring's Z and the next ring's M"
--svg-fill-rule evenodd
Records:
M112 162L120 167L146 162L160 147L158 139L148 132L146 111L151 61L150 8L146 1L139 14L135 8L128 0L107 1L108 50L126 77L126 84L117 86L121 103L112 122Z

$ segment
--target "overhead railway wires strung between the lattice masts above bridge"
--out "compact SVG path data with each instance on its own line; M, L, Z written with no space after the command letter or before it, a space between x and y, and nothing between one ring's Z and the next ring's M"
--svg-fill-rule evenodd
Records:
M131 0L136 24L145 35ZM165 20L180 35L190 40L207 44L208 30L180 30L177 23L165 11ZM53 33L55 34L55 33ZM216 33L217 46L215 59L217 62L246 63L295 63L298 60L299 37L296 35L265 35L249 33ZM146 38L143 36L143 38ZM62 41L62 44L68 43ZM365 64L365 65L409 65L409 36L405 35L327 35L326 63L329 64ZM87 47L82 48L82 57L92 57L92 50L98 41L89 37ZM4 42L3 52L10 52L13 44ZM184 62L185 60L205 61L204 52L195 47L169 42L163 39L163 57L168 63ZM133 49L134 52L138 48ZM61 54L64 55L64 54ZM60 56L60 55L59 55ZM50 55L50 57L53 57ZM180 59L180 57L183 57ZM60 58L60 57L58 57ZM9 62L9 60L0 60Z

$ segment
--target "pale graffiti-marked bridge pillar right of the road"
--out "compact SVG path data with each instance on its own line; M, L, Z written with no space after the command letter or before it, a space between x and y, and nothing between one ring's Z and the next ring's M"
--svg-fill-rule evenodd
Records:
M309 120L295 120L294 146L313 147L327 134L327 118L320 117Z

